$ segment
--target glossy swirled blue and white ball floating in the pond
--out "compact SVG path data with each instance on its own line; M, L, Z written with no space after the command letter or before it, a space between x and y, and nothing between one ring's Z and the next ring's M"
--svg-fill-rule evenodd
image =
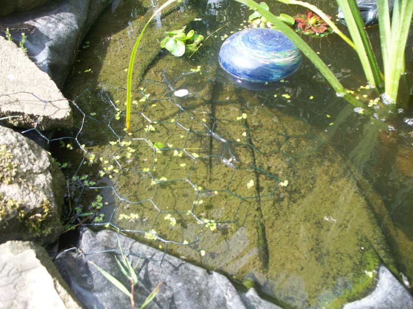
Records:
M219 64L242 86L242 82L270 83L293 74L301 54L281 31L248 28L231 35L219 51Z

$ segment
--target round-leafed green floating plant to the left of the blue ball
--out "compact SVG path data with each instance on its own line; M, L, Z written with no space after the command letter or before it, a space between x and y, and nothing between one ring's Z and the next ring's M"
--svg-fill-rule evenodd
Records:
M161 41L161 48L167 49L177 57L185 52L194 52L204 40L204 36L195 33L194 30L185 33L185 29L186 26L183 26L178 30L164 32L167 36Z

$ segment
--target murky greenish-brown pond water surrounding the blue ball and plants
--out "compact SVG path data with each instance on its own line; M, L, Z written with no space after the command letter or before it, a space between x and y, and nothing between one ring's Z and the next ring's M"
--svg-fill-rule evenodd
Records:
M337 12L331 1L311 3ZM268 4L274 14L305 11ZM185 1L155 19L138 49L128 135L129 56L158 5L115 1L64 87L76 125L52 146L68 163L72 223L127 233L254 284L285 308L340 308L374 286L381 264L412 282L411 48L400 109L379 122L355 113L304 57L276 89L236 87L217 53L251 11L235 1ZM185 25L210 35L199 51L177 58L161 50L163 31ZM378 51L378 27L369 35ZM355 95L377 96L361 87L360 63L340 38L306 41ZM179 89L189 95L174 96Z

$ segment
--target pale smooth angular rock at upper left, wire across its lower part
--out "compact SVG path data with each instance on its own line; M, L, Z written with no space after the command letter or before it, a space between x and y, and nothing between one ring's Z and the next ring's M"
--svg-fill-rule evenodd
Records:
M0 37L0 116L7 126L49 130L73 124L69 102L13 42Z

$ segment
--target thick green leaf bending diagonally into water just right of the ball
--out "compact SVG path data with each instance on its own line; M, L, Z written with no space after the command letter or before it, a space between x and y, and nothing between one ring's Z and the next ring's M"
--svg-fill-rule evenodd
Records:
M316 52L312 50L310 46L305 43L295 31L280 21L276 16L274 16L269 11L266 11L261 7L257 2L253 0L236 0L244 5L247 5L254 11L259 12L264 16L272 25L274 25L278 30L282 31L294 44L295 46L306 56L308 57L314 66L320 71L320 73L325 77L325 79L330 83L333 89L336 91L338 96L344 97L349 103L354 106L361 107L363 106L357 99L349 95L337 77L330 71L327 65L320 59Z

